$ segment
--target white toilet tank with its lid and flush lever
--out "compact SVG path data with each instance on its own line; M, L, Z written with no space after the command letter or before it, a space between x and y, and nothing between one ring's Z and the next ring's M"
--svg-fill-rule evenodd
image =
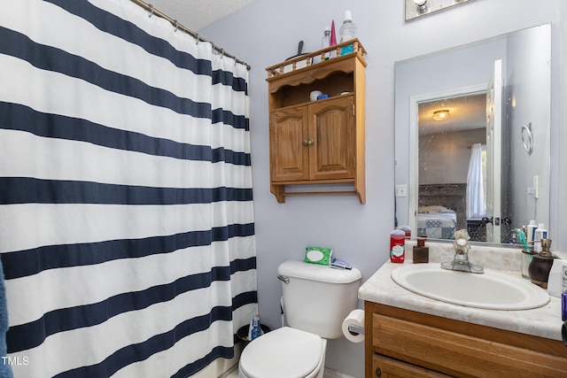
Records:
M343 336L343 320L356 308L362 278L358 269L287 260L278 266L277 275L288 326L327 339Z

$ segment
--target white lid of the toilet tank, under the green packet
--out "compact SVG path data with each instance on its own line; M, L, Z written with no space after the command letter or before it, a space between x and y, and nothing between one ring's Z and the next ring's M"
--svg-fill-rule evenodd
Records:
M350 283L362 278L361 271L354 267L350 270L335 269L330 266L311 264L299 260L283 261L277 267L277 274L329 283Z

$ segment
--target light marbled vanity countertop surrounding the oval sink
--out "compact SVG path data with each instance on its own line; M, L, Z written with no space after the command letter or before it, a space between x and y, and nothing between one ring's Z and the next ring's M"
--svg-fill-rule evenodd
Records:
M411 247L407 248L406 263L412 264ZM473 247L474 250L474 247ZM471 262L474 253L470 254ZM433 258L434 260L435 258ZM434 262L431 261L430 262ZM475 262L476 263L476 262ZM415 312L423 312L453 320L462 320L483 326L506 329L521 334L562 340L561 298L550 296L548 305L520 311L485 310L462 305L452 305L403 289L392 281L390 274L400 264L387 261L384 266L364 282L359 289L359 298L381 305L391 305ZM488 268L489 266L485 266ZM514 274L513 272L510 274ZM514 274L519 276L520 274Z

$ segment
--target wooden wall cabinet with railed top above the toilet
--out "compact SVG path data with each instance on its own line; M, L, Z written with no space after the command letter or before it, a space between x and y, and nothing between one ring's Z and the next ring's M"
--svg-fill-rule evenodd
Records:
M353 53L325 60L350 43ZM267 68L270 190L279 203L291 195L330 194L366 202L365 55L355 39ZM330 97L310 101L313 90ZM309 189L326 184L352 189ZM300 189L286 191L291 185Z

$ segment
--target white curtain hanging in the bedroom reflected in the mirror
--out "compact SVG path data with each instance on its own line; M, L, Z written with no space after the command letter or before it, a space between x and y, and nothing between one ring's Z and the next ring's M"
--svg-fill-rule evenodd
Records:
M486 215L485 190L482 176L482 144L472 145L467 175L467 219Z

